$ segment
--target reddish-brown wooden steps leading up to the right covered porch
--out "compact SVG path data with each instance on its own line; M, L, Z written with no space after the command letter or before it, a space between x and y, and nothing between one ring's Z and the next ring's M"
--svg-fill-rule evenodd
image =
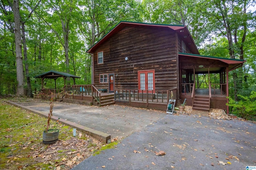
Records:
M192 109L209 111L210 110L210 98L209 96L194 96Z

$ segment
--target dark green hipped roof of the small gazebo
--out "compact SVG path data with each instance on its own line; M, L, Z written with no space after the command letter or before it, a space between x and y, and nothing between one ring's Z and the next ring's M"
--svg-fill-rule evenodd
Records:
M79 76L75 76L66 72L58 72L50 70L48 72L44 72L42 74L39 74L37 76L34 76L34 78L58 78L58 77L71 77L71 78L81 78Z

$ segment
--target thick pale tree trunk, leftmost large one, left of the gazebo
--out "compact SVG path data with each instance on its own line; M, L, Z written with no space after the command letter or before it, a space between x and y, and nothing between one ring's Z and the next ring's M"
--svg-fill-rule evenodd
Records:
M24 69L21 50L21 35L20 35L20 8L19 1L13 1L14 14L14 35L15 35L15 51L16 51L16 77L17 77L17 96L24 96Z

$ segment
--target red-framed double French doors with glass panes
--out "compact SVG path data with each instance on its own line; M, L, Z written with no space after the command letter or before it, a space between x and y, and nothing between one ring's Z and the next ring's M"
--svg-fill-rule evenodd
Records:
M148 93L152 93L152 90L155 88L155 70L143 70L138 71L138 80L139 80L139 93L142 93L143 90Z

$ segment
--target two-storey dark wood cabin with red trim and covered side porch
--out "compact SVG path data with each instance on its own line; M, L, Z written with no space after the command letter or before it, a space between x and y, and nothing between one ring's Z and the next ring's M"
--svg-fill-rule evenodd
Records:
M245 62L200 55L188 28L121 21L87 51L92 84L114 93L116 104L166 110L186 98L193 109L228 112L228 72ZM208 74L204 86L196 75ZM218 75L218 82L210 76Z

